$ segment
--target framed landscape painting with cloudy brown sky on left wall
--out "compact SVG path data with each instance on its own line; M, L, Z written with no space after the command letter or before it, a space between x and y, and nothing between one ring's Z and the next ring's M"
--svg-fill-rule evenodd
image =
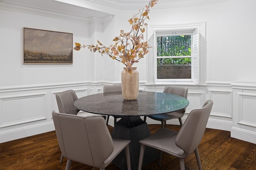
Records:
M72 64L73 34L23 28L24 64Z

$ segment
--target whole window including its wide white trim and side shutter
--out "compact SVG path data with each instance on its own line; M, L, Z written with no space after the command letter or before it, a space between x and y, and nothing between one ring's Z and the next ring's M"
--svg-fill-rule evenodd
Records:
M204 76L205 22L148 25L148 42L154 60L148 60L151 84L202 84ZM201 37L201 38L200 38ZM153 75L153 76L152 76Z

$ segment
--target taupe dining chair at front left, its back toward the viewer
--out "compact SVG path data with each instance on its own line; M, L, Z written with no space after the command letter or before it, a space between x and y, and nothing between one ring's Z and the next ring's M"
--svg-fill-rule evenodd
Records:
M130 164L130 140L112 139L102 116L79 116L52 111L60 149L68 158L66 170L76 161L104 170L125 150L127 169Z

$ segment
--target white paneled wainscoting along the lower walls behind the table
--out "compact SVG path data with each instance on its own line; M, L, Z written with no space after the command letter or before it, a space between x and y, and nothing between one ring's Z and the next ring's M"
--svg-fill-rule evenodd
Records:
M0 142L11 141L29 135L44 133L54 130L52 123L52 110L58 111L55 94L64 90L74 90L81 98L90 94L103 92L103 86L107 84L115 84L111 82L95 81L95 82L64 82L54 84L36 84L8 86L0 88ZM256 133L256 115L252 114L256 110L256 89L251 83L234 84L231 86L229 82L208 82L208 85L194 86L187 85L188 100L190 105L186 109L186 113L182 121L186 120L188 113L192 109L202 107L206 100L213 100L214 106L207 124L208 128L220 129L232 132L232 137L252 142L252 138ZM140 84L140 90L162 91L164 84ZM180 86L186 86L182 84ZM249 89L249 90L248 90ZM6 117L8 114L18 115L26 114L26 109L14 109L8 111L13 101L20 103L28 102L35 105L41 110L39 115L32 115L32 111L26 119L22 117L17 120L15 117ZM33 100L33 101L32 101ZM28 108L30 105L28 105ZM38 109L38 107L40 107ZM81 112L82 115L90 115L90 113ZM34 117L33 117L34 116ZM4 118L4 121L2 121ZM147 119L148 124L158 124L158 121ZM178 124L178 121L168 121L168 123ZM110 117L109 125L114 125L114 119Z

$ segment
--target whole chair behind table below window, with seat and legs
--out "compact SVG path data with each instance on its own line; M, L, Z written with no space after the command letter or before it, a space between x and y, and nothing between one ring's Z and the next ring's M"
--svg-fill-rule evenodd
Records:
M178 96L182 96L184 98L188 98L188 88L185 88L185 87L165 86L164 93L175 94ZM174 111L172 113L166 113L162 115L152 115L148 117L157 121L161 121L161 124L162 124L161 127L166 127L166 121L170 119L179 119L180 126L182 126L181 118L183 117L185 111L186 111L186 107L184 109ZM144 122L146 122L146 116L144 116Z

